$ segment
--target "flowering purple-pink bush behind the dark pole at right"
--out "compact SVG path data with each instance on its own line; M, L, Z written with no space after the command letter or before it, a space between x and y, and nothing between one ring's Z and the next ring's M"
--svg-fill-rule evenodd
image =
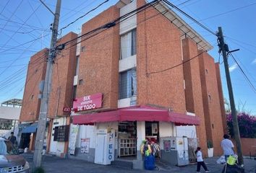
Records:
M226 115L226 121L229 129L229 134L233 138L234 131L231 113ZM241 138L256 138L256 117L250 116L245 112L240 112L237 114L237 121Z

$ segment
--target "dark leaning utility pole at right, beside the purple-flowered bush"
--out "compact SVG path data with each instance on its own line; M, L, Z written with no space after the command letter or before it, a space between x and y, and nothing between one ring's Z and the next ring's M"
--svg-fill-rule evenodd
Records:
M234 103L234 94L233 94L231 78L229 74L229 63L227 58L227 51L229 51L229 49L228 49L228 46L224 43L223 32L221 27L218 27L218 46L220 51L222 52L223 62L224 62L225 72L226 72L226 83L229 89L229 102L231 106L231 115L232 115L232 123L233 123L233 130L234 130L234 138L236 141L236 149L238 154L238 162L239 162L239 165L242 165L244 164L242 144L241 144L241 138L239 133L237 115L236 115L236 106Z

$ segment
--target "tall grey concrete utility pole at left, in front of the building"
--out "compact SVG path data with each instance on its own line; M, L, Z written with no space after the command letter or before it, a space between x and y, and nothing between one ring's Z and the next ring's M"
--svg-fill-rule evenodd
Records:
M43 1L41 1L43 3ZM43 3L44 6L46 4ZM51 12L47 6L46 8ZM61 0L57 0L56 11L51 12L54 14L54 24L52 25L52 34L51 34L51 47L48 55L47 68L46 68L46 78L43 84L43 94L41 97L40 103L40 113L38 117L38 130L35 138L35 153L33 157L33 168L40 167L42 160L42 151L43 151L43 140L46 133L46 119L48 112L48 98L51 92L51 76L53 71L53 63L56 57L56 42L58 35L59 27L59 15L61 11Z

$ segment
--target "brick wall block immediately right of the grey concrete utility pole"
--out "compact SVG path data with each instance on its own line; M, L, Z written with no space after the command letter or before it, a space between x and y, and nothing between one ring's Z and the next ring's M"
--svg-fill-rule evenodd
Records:
M61 37L58 44L65 43L77 38L77 34L69 34ZM73 104L73 81L76 67L77 40L69 43L61 50L53 67L51 79L51 94L49 97L48 117L67 116L69 112L63 112L64 107L72 107Z

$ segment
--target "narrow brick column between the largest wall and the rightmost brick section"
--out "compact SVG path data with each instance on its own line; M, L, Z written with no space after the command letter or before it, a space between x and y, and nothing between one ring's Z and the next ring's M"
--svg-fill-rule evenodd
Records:
M197 45L189 38L186 38L182 40L182 46L184 62L187 61L183 64L186 107L188 112L195 112L195 115L200 117L200 125L197 126L197 138L199 138L199 146L202 148L202 154L206 155L208 152L207 136L205 130L205 115L202 109L200 66L199 58L194 58L198 54Z

